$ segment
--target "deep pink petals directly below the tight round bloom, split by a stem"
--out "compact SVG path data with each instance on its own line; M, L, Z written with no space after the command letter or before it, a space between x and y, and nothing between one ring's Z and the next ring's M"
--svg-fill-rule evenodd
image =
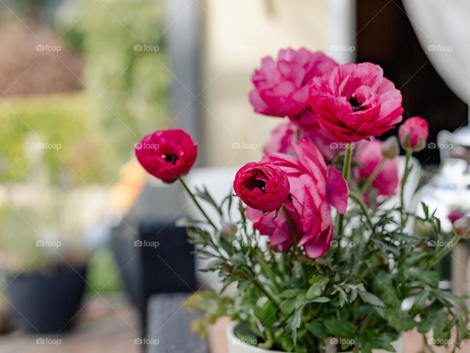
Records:
M295 226L298 237L304 235L302 222L292 201L284 204L292 223ZM292 245L292 233L290 232L289 223L284 212L280 212L278 217L273 219L272 214L264 215L263 211L255 208L246 208L246 217L253 222L253 227L259 230L262 235L267 235L271 239L269 246L279 251L286 251Z

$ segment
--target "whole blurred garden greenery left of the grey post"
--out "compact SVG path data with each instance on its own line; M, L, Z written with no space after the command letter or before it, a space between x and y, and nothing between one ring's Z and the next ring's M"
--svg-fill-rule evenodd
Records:
M138 196L140 181L120 175L132 146L168 121L163 3L2 4L0 265L37 271L88 257L90 286L119 290L102 228Z

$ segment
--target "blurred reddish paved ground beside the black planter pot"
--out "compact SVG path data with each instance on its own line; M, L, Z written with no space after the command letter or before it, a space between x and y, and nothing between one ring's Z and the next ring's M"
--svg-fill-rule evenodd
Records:
M71 332L12 332L0 336L0 353L141 353L142 346L134 343L141 335L136 310L120 295L103 297L94 298L77 315Z

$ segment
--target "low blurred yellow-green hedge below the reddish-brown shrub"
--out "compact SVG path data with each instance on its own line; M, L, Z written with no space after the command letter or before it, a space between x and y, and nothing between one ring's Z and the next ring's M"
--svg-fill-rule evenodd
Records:
M103 146L89 104L83 93L4 98L0 182L23 181L40 154L53 184L109 183L121 158Z

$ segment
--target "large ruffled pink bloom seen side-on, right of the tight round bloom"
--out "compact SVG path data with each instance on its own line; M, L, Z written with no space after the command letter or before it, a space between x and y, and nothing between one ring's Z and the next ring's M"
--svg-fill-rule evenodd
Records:
M298 246L303 246L307 257L317 258L329 250L333 239L330 206L346 212L348 185L310 142L300 140L291 146L297 157L276 153L264 156L262 161L279 166L287 174L292 204L303 230Z

